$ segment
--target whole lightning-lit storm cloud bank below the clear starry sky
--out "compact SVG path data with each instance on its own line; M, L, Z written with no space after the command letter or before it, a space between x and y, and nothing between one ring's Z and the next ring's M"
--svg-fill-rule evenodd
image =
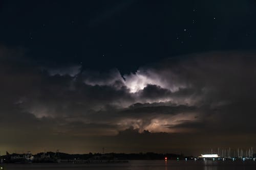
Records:
M17 143L17 149L38 151L39 145L52 149L65 139L59 149L73 142L93 150L102 148L96 141L100 140L110 152L125 152L128 143L136 144L129 144L127 152L161 152L171 141L176 145L169 151L190 152L195 143L207 148L237 138L233 145L246 144L243 137L254 135L253 52L167 59L123 77L117 69L78 69L70 74L74 65L56 68L60 72L52 74L24 57L22 50L2 47L0 53L4 149L15 148ZM205 138L208 145L202 142ZM159 147L151 150L153 145ZM74 148L66 150L78 150Z

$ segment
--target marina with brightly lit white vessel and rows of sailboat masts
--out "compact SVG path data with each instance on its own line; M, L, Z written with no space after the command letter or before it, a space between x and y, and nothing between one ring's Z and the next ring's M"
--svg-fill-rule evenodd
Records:
M218 154L213 154L211 149L211 154L202 154L198 158L194 158L195 160L253 160L255 161L256 158L253 155L253 149L252 147L249 149L236 149L231 150L229 149L219 149L218 148Z

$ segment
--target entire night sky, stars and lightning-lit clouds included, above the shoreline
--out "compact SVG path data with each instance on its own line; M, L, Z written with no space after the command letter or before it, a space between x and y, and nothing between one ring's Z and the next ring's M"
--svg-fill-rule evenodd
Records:
M0 151L256 148L256 2L0 1Z

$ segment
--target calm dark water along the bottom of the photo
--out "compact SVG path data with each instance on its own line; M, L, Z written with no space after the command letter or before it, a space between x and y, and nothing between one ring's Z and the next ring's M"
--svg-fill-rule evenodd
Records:
M256 161L161 161L161 160L140 160L129 161L129 163L102 163L102 164L72 164L72 163L33 163L33 164L4 164L6 170L22 169L65 169L65 170L233 170L256 169Z

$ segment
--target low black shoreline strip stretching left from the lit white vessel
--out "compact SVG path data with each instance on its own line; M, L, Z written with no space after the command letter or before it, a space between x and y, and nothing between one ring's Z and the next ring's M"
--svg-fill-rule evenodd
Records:
M37 153L32 155L27 154L9 154L1 156L2 163L57 163L57 162L79 162L79 161L97 161L97 160L108 160L108 161L118 161L118 160L164 160L167 159L193 159L193 156L185 157L182 154L157 154L157 153L89 153L89 154L67 154L61 152L46 152Z

